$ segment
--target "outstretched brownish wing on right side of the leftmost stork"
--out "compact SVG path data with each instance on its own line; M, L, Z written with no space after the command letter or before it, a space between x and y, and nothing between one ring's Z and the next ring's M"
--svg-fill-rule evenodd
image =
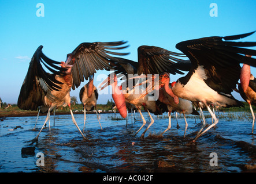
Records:
M111 60L117 60L110 56L112 55L127 55L128 53L118 53L108 51L109 49L124 49L124 47L117 47L127 42L116 41L116 42L95 42L95 43L81 43L72 54L75 56L75 64L72 67L73 75L73 86L79 87L81 82L84 82L84 78L88 80L90 75L96 73L96 70L110 70L113 68L114 63Z

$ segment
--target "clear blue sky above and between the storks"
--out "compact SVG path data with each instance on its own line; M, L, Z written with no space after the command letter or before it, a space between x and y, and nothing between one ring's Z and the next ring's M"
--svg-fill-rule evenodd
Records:
M44 17L36 16L38 3L44 5ZM211 3L218 6L217 17L209 14ZM80 43L125 40L130 46L124 52L131 52L125 58L137 61L140 45L179 52L175 45L180 41L254 31L255 9L255 0L1 1L0 97L3 102L17 103L30 59L39 45L46 56L65 61L66 54ZM243 41L256 41L256 34ZM251 71L254 76L255 71ZM108 73L97 72L96 76L99 74ZM179 77L173 76L172 81ZM85 84L71 91L78 101ZM100 95L98 103L105 104L110 98Z

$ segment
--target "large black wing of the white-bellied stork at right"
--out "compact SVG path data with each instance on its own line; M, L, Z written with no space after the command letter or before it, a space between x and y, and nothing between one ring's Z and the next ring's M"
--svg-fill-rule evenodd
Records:
M241 67L239 63L256 67L256 59L244 56L256 56L256 51L243 48L254 47L256 42L234 42L229 40L238 40L253 33L226 37L205 37L176 44L176 48L191 60L192 67L187 76L192 75L198 66L203 66L207 77L205 79L206 84L218 93L230 94L232 89L235 89L240 77ZM183 81L183 83L186 82Z

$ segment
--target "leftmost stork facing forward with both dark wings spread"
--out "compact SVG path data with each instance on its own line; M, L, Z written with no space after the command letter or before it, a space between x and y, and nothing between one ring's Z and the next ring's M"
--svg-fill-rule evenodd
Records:
M71 110L71 88L75 90L84 79L88 80L89 76L95 74L96 70L110 70L113 67L111 61L115 59L107 53L113 55L127 55L128 53L107 50L126 48L128 46L116 47L125 43L124 41L81 43L72 53L67 55L66 62L55 62L46 57L42 52L43 46L41 45L36 49L29 63L28 72L18 97L18 108L36 110L39 106L46 106L49 108L44 122L46 124L50 118L51 110L58 106L68 105L73 123L83 138L88 140L78 127ZM52 73L46 72L42 64ZM38 141L40 132L32 140L32 143Z

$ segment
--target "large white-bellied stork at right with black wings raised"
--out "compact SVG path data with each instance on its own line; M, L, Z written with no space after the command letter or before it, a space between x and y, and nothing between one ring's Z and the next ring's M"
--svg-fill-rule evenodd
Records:
M171 94L195 103L202 103L214 119L214 123L199 133L194 141L218 123L218 118L210 109L209 104L220 107L243 106L242 102L235 99L231 92L236 88L236 83L240 78L240 63L256 67L256 59L244 56L256 56L256 51L243 48L254 47L256 42L232 40L242 39L253 33L205 37L176 44L176 48L190 59L192 66L187 75L173 83L170 89ZM158 85L164 85L164 82L168 84L170 82L170 76L166 72L159 76Z

